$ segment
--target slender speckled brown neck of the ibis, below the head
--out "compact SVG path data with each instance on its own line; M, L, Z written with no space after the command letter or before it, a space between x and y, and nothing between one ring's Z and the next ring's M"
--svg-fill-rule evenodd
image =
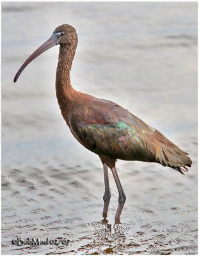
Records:
M70 111L76 90L70 83L70 69L76 52L76 44L60 45L59 61L56 70L56 96L61 114L66 119Z

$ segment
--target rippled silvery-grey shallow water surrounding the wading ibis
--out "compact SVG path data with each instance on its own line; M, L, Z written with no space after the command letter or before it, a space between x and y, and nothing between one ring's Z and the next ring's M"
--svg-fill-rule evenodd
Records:
M196 3L2 3L2 253L197 253ZM99 158L72 137L54 92L58 47L20 65L56 26L77 30L77 90L129 109L189 152L180 175L159 164L118 161L127 195L102 220ZM63 237L68 245L16 246Z

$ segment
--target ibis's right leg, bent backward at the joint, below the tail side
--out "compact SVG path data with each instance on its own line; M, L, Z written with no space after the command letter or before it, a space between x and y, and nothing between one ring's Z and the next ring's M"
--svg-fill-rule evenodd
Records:
M126 200L126 196L125 196L125 193L123 192L123 188L122 188L122 185L120 183L120 179L118 177L118 173L116 172L116 168L113 167L111 168L111 171L113 173L113 177L115 179L115 183L116 183L116 186L118 188L118 193L119 193L119 198L118 198L118 209L116 211L116 214L115 214L115 220L116 222L120 220L120 214L122 212L122 209L123 209L123 205L125 203L125 200Z

